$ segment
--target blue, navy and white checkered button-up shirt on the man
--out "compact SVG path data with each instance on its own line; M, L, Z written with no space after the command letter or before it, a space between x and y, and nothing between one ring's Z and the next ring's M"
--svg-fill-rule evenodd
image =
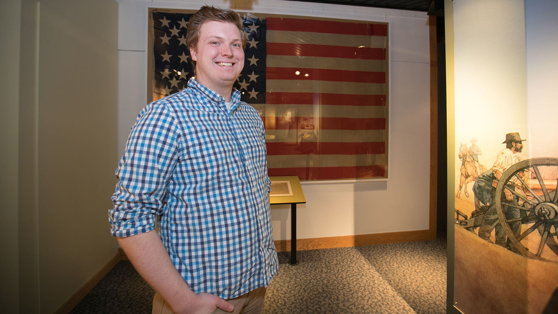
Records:
M230 299L277 272L262 120L237 90L223 97L196 80L148 104L116 171L112 235L155 229L195 292Z

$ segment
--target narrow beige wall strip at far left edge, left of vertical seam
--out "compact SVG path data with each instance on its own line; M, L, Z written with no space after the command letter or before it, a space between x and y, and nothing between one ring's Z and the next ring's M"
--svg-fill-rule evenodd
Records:
M17 135L21 1L0 1L0 304L19 312L17 254Z

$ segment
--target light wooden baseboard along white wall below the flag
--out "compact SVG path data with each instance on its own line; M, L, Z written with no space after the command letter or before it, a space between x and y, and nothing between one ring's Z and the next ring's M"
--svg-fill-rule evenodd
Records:
M312 239L297 239L296 250L315 250L331 248L348 248L350 246L387 244L396 242L412 242L436 239L436 227L431 230L386 232L383 234L315 237ZM278 252L291 250L291 240L276 240L275 248Z

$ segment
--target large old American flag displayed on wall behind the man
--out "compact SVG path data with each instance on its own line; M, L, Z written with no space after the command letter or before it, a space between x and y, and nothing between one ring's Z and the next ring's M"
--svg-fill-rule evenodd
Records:
M152 14L154 38L163 41L155 40L152 54L158 99L180 91L193 75L179 38L191 15ZM246 60L234 87L266 127L268 174L303 181L387 178L387 24L243 20Z

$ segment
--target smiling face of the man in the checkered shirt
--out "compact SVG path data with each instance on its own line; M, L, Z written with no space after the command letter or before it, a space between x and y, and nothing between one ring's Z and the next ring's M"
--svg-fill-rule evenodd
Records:
M203 23L198 45L190 47L190 55L196 61L196 80L212 91L232 89L244 68L242 38L233 23Z

